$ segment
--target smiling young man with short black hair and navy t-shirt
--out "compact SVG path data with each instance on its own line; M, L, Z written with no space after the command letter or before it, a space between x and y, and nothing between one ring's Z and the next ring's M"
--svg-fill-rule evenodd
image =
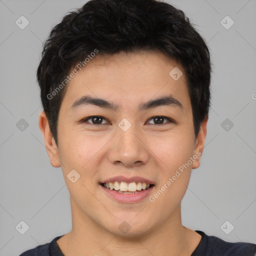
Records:
M72 230L29 255L253 256L181 223L210 105L209 50L181 10L91 0L63 17L37 69L39 127L70 193Z

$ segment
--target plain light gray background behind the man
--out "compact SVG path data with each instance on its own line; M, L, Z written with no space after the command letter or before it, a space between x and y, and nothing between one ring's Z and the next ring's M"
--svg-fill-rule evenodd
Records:
M50 29L85 2L0 0L0 255L18 255L71 229L69 193L38 127L35 72ZM182 200L183 225L256 243L256 0L169 3L196 24L213 63L205 148ZM15 24L21 15L29 21L24 29ZM229 29L220 22L226 15L234 21ZM21 118L28 123L23 130ZM15 228L21 220L29 226L24 234ZM229 234L220 228L226 220L234 226Z

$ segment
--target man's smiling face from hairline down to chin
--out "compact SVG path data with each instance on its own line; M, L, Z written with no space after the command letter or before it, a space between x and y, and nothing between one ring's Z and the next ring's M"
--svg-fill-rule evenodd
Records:
M94 57L70 80L57 133L48 154L62 168L72 211L109 233L142 235L179 214L206 121L195 137L181 66L160 52L118 53ZM127 188L136 192L115 191Z

